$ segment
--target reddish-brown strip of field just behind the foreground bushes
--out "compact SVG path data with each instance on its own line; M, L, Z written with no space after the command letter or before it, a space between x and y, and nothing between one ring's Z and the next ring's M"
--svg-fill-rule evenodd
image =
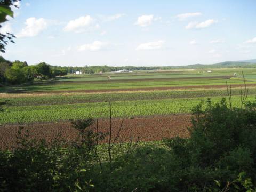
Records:
M133 119L124 119L121 132L117 141L122 142L136 139L139 141L156 141L163 138L172 138L180 136L189 137L187 127L191 125L191 115L171 115L171 116L153 116L153 117L135 117ZM121 126L122 119L112 119L112 139L115 139ZM109 132L109 119L98 120L98 131ZM30 132L30 138L46 139L51 142L58 134L66 141L79 140L78 131L75 130L68 121L31 123L22 125L23 130ZM96 130L96 123L91 125ZM16 136L19 125L9 124L0 127L0 148L11 149L16 145ZM107 143L107 139L102 143Z

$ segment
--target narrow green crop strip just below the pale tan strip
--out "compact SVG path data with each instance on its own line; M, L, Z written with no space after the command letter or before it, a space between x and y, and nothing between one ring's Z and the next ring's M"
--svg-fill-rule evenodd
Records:
M240 89L233 89L233 95L240 95ZM255 88L250 88L249 94L256 94ZM174 98L197 98L197 97L215 97L226 96L226 89L205 89L205 90L176 90L176 91L152 91L152 92L134 92L134 93L105 93L105 94L73 94L73 95L48 95L42 97L19 97L9 98L12 106L30 106L30 105L61 105L87 102L105 102L105 101L131 101L131 100L156 100L156 99L174 99ZM0 98L4 102L6 98Z

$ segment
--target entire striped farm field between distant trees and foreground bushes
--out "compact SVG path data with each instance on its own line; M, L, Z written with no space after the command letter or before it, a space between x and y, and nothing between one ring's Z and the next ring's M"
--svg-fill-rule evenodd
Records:
M55 134L72 140L76 134L70 119L99 119L100 129L109 127L109 100L116 133L121 119L121 138L159 141L164 137L188 137L191 108L211 98L213 103L227 98L231 85L233 106L241 105L244 81L249 87L247 101L255 99L256 69L212 69L138 71L102 75L67 75L55 80L0 89L0 102L7 112L0 116L1 148L10 148L18 123L34 137L51 140ZM236 75L234 75L236 74ZM111 79L107 79L111 76Z

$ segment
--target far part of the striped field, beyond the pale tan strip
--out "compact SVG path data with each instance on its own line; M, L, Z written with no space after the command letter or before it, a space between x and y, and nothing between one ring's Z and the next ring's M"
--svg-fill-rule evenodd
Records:
M245 76L253 77L255 70L243 69ZM124 73L103 75L68 75L54 81L35 82L25 86L1 88L7 93L63 93L63 92L108 92L131 90L187 89L197 87L225 87L229 84L243 84L241 69L223 69L207 73L207 70ZM234 74L236 73L236 76ZM107 79L110 76L111 79ZM253 78L248 85L256 85Z

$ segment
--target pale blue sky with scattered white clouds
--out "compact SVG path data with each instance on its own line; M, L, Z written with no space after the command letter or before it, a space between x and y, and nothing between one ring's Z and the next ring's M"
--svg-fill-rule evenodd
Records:
M256 1L23 0L2 54L29 65L177 66L256 58Z

